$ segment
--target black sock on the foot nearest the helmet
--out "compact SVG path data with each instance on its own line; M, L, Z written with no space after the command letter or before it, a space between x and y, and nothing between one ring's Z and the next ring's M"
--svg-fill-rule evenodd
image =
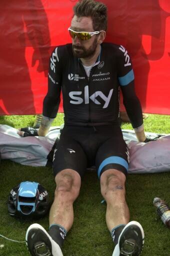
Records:
M64 242L64 238L66 236L66 230L63 226L58 224L52 224L49 226L49 235L52 237L52 239L61 247Z

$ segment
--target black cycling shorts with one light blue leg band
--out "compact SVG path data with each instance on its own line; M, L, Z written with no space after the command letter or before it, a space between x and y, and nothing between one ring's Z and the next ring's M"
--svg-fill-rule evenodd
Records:
M53 173L69 168L80 177L87 167L95 165L98 177L107 169L117 169L125 175L129 153L118 125L64 126L53 155Z

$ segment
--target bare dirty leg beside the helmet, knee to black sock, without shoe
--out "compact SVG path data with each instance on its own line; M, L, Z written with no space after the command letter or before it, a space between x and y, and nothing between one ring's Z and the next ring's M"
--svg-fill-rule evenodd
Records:
M79 194L81 178L78 172L65 169L55 176L56 188L54 200L49 212L49 234L60 246L65 234L60 234L60 228L66 232L73 223L73 202Z

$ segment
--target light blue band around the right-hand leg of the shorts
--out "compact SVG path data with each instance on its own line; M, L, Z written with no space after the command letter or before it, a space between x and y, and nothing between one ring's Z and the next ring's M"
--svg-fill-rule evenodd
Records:
M124 160L122 157L119 157L119 156L110 156L110 157L107 157L106 159L104 159L99 167L98 167L98 177L100 177L100 172L102 170L102 168L106 165L106 164L109 164L109 163L118 163L120 165L122 165L126 171L128 170L128 162L126 160Z

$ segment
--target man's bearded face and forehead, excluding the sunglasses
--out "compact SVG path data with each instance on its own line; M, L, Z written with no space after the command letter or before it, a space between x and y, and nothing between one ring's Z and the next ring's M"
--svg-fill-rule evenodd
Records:
M71 20L71 29L75 31L94 31L92 27L91 17L77 17L73 16ZM88 40L80 40L75 36L72 39L72 52L74 56L79 58L88 58L91 57L97 47L97 35L91 36Z

